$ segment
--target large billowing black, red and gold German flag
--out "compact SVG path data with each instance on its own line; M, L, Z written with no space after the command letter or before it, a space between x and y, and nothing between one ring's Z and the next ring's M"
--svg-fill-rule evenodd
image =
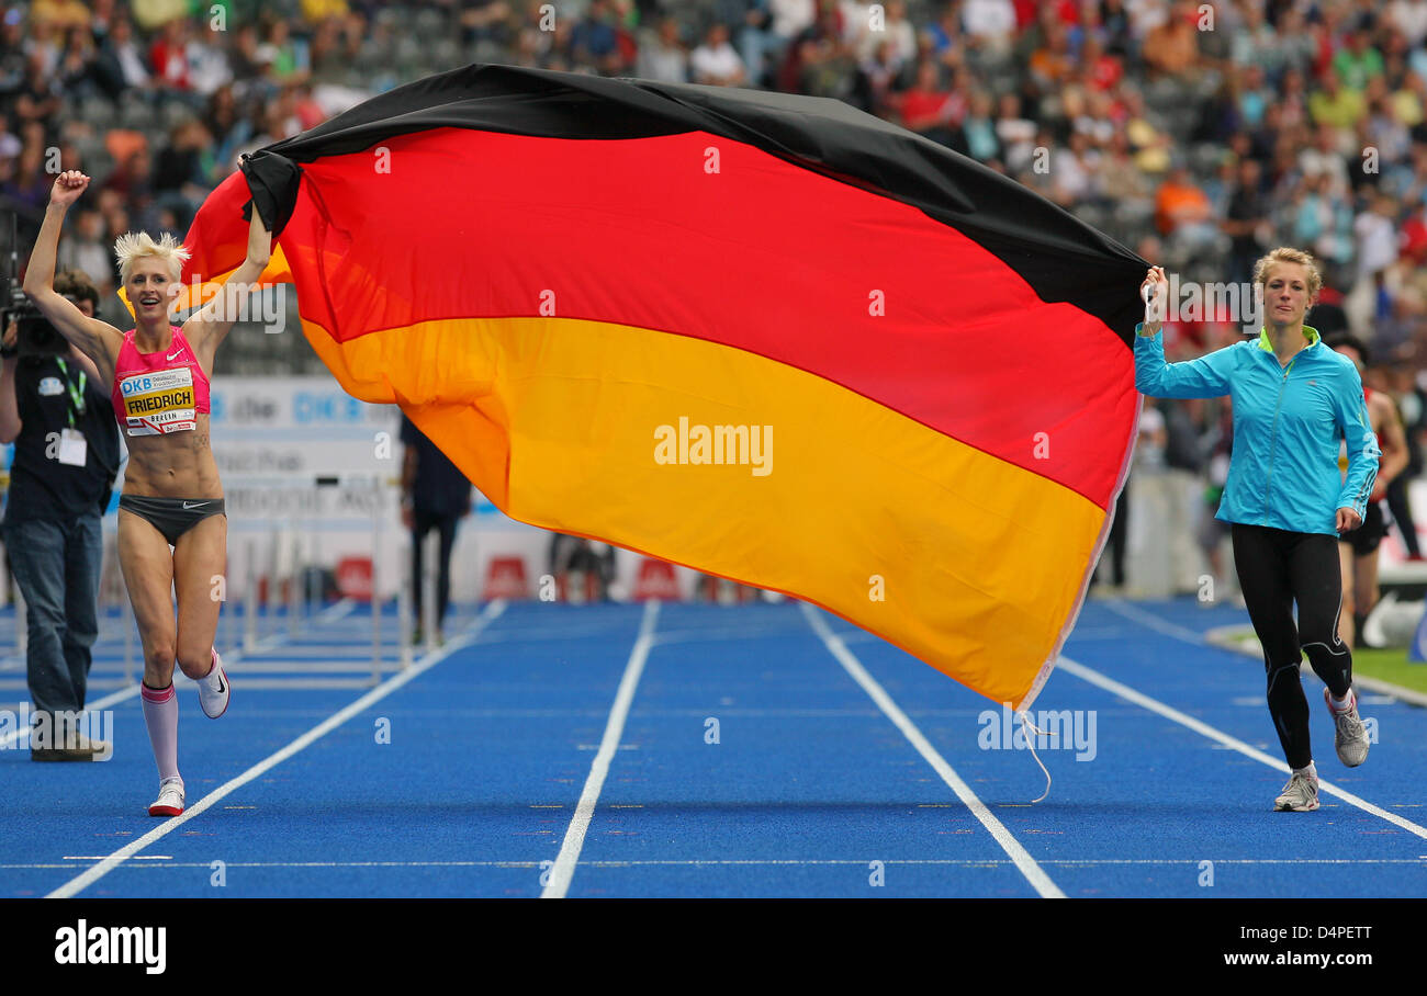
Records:
M1113 240L838 101L504 66L243 174L188 278L243 261L251 195L342 387L512 518L815 602L996 702L1049 676L1139 414L1146 263Z

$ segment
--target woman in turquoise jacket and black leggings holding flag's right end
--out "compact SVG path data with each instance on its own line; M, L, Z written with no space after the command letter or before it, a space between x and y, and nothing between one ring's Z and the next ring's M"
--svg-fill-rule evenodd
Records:
M1291 769L1274 808L1310 810L1319 808L1319 778L1299 681L1303 654L1327 685L1339 759L1349 768L1367 759L1353 655L1337 635L1337 542L1363 524L1378 449L1357 368L1303 324L1323 284L1313 257L1277 248L1259 260L1254 283L1264 310L1257 340L1166 364L1159 317L1169 283L1153 267L1140 288L1149 304L1136 330L1134 387L1153 398L1233 400L1233 457L1216 518L1232 524L1234 566L1263 645L1269 712ZM1339 471L1340 439L1347 441L1347 479Z

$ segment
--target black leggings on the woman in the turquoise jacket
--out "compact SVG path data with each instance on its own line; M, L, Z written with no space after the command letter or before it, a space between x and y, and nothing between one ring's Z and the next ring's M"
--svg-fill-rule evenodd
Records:
M1234 568L1253 629L1263 644L1269 675L1269 713L1290 768L1307 768L1309 699L1299 681L1301 655L1334 696L1353 684L1353 654L1339 639L1343 575L1337 537L1287 532L1264 525L1233 525ZM1293 625L1293 602L1299 625Z

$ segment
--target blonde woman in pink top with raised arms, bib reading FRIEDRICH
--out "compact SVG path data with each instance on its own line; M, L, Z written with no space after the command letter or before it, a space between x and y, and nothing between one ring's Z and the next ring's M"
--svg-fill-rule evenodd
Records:
M217 294L183 327L170 324L188 250L173 235L154 241L143 233L128 234L116 243L114 253L137 327L121 332L86 318L54 293L53 284L64 214L88 183L78 170L54 181L24 273L24 293L113 385L114 414L128 445L118 501L118 562L144 644L144 725L158 765L158 798L148 815L177 816L184 809L184 786L174 664L198 684L207 716L221 716L231 693L213 646L218 629L214 591L227 568L228 519L208 447L208 375L214 352L237 318L240 298ZM228 287L251 288L271 247L273 237L254 208L248 258ZM170 589L178 598L177 618Z

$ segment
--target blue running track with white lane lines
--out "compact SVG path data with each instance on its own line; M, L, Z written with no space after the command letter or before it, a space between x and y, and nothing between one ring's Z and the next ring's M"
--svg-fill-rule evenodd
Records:
M218 721L180 682L188 812L163 820L110 616L113 758L0 733L0 896L1427 895L1427 711L1364 695L1346 769L1306 674L1323 806L1271 812L1261 664L1203 636L1232 606L1089 602L1035 705L1072 733L1040 738L1035 803L999 708L801 604L467 606L408 669L380 622L374 665L364 606L258 619ZM23 678L10 649L11 713Z

